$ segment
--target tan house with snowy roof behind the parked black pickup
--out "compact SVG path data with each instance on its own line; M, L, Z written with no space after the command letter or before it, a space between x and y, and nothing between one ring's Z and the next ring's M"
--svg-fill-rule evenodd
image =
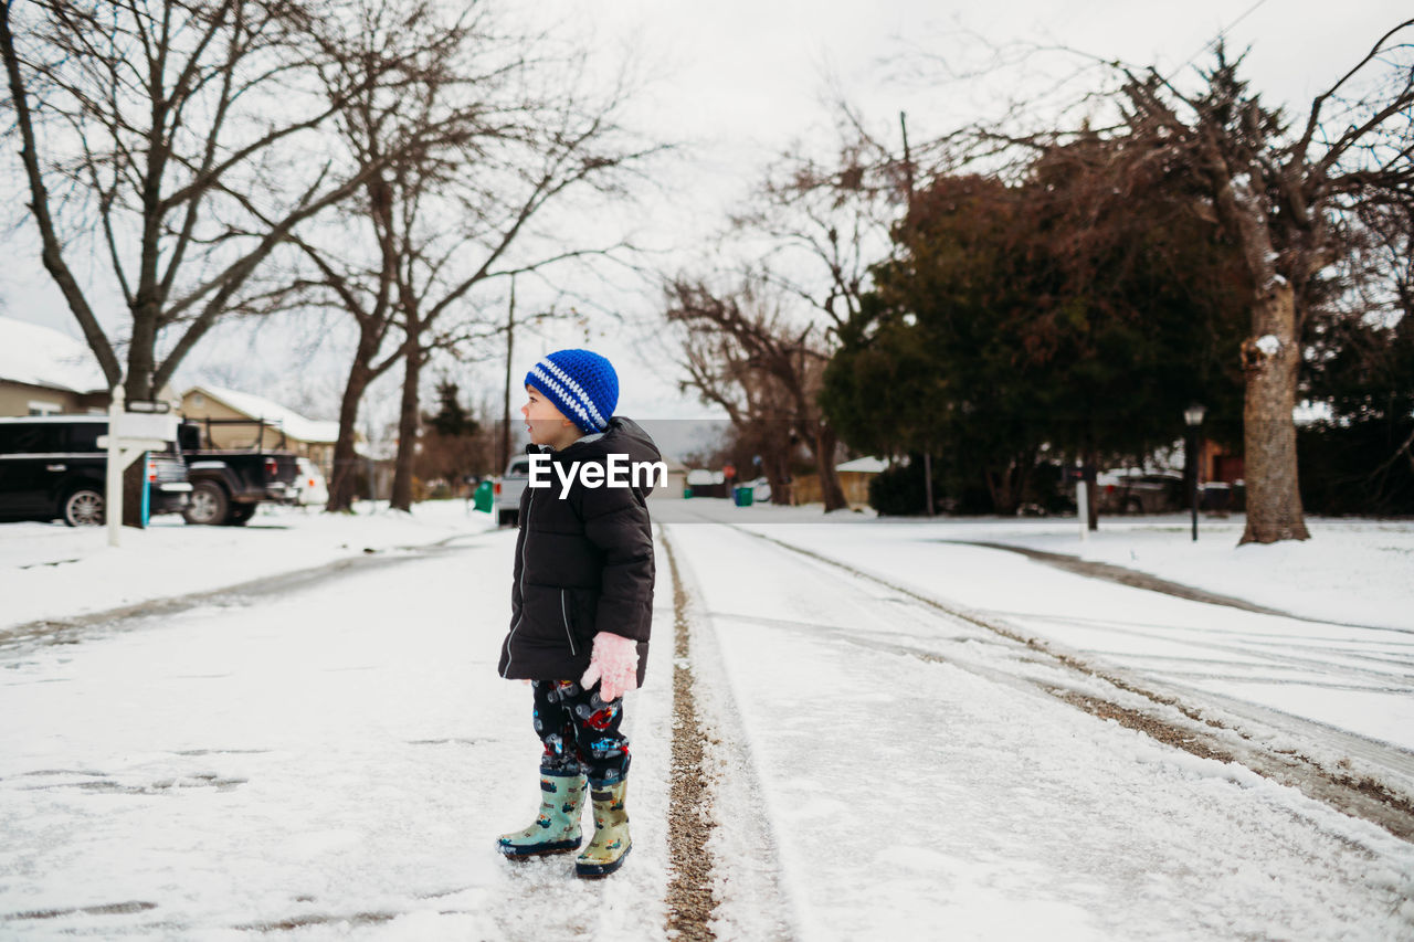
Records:
M339 440L337 421L305 419L263 396L209 385L182 393L180 412L202 427L205 447L293 451L332 477L334 446Z

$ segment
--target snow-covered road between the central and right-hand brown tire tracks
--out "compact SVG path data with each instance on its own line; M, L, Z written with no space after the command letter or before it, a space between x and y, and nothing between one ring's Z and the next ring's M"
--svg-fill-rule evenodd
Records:
M1025 645L875 581L721 526L669 539L707 713L747 743L720 761L761 782L803 938L1410 935L1408 843L1096 720L1044 692L1075 679ZM720 912L735 938L771 928L730 895Z

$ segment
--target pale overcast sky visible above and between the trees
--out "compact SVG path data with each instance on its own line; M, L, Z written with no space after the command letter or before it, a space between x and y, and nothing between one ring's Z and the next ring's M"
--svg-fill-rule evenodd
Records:
M1230 48L1251 47L1247 75L1253 86L1268 103L1290 103L1299 112L1408 16L1410 7L1390 0L547 0L525 8L592 37L605 61L629 55L638 64L646 83L628 122L683 147L662 168L663 188L631 214L639 239L690 252L717 229L765 163L793 140L819 137L829 124L827 76L877 127L896 127L898 112L906 110L911 136L922 140L963 120L987 117L1008 96L1044 93L1046 76L1073 61L1052 57L1025 71L946 81L947 68L981 64L991 45L1069 47L1185 75L1192 65L1186 72L1182 66L1205 62L1205 45L1227 28ZM10 236L3 246L6 313L78 337L37 257L17 257L33 252L33 243ZM617 276L612 287L594 290L602 307L622 311L632 322L655 306L650 293ZM561 345L590 345L619 369L621 413L703 414L701 406L676 393L672 369L642 332L591 317L588 337L580 327L518 337L513 372L523 375L536 358ZM293 345L276 330L264 331L253 347L228 331L198 349L182 376L250 392L269 393L276 385L276 392L300 400L293 405L331 414L339 388L337 358L317 356L298 380L271 379L288 373L281 361ZM467 369L464 378L465 386L485 392L501 382L499 368Z

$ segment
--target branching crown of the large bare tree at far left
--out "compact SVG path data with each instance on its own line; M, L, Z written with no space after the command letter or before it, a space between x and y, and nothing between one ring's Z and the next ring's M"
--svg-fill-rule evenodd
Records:
M301 0L0 6L42 263L130 400L161 389L223 315L255 310L253 273L390 157L354 164L324 146L321 129L403 66L385 58L358 82L312 81L348 76L329 33L342 13ZM103 257L92 283L71 263L88 233ZM109 294L127 310L117 330L98 315Z

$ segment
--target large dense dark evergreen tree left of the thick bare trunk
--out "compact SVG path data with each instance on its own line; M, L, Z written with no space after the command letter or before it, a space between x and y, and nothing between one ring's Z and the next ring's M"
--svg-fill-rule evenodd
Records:
M1044 453L1097 464L1182 436L1192 400L1233 419L1246 284L1200 202L1117 144L1051 149L1025 180L916 194L896 257L841 331L822 403L844 440L939 455L953 495L1028 499ZM935 468L935 477L939 470Z

